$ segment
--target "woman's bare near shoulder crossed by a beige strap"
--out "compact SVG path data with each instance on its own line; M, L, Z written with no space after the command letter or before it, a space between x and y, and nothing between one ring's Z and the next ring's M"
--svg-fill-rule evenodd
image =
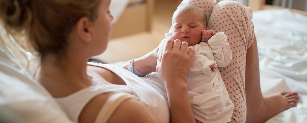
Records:
M156 122L132 94L106 93L94 97L79 116L79 123Z

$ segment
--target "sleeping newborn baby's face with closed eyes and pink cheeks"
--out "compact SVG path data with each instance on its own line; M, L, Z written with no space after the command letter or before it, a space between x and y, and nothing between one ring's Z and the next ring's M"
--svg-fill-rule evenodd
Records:
M175 15L173 18L172 35L181 42L187 42L189 46L194 46L201 41L201 30L204 29L200 22L200 14L186 12Z

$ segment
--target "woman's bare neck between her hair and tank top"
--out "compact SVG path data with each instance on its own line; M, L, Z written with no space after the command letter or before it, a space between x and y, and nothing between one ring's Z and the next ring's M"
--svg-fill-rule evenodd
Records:
M86 70L86 58L67 56L57 61L54 55L47 55L42 59L38 79L44 86L67 84L82 88L91 84L91 77Z

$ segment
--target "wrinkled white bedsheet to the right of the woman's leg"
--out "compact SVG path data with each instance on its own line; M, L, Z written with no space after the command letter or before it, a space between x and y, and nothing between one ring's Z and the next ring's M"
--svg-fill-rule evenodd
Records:
M307 123L307 17L289 10L253 13L264 96L279 91L297 91L296 107L266 123Z

